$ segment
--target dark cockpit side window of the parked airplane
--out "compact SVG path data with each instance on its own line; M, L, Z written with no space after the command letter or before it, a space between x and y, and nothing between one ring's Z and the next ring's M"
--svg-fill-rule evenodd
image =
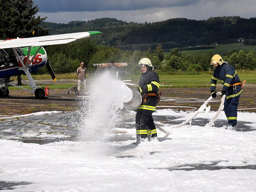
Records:
M5 68L12 68L16 66L18 66L18 62L13 50L0 49L0 70Z

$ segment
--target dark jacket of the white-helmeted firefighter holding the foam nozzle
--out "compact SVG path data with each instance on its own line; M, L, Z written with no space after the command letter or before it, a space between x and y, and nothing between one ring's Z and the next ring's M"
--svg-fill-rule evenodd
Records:
M140 85L139 89L140 89L141 96L143 96L145 93L157 94L159 89L159 83L160 83L159 76L157 75L156 72L150 70L142 74L139 82L139 85ZM143 102L142 100L142 103L139 109L155 111L156 104L157 104L157 97L148 96L146 102Z

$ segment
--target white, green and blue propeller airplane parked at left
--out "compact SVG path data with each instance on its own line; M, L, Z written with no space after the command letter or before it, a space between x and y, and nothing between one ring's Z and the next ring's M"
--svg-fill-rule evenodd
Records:
M46 66L53 81L56 81L56 76L49 61L47 60L47 54L43 46L67 44L78 39L96 36L99 34L101 34L100 31L88 31L30 38L17 37L15 39L0 40L0 97L8 97L8 87L15 86L29 91L31 94L35 94L35 97L38 99L44 98L44 88L37 86L31 76L31 72L36 72L39 68ZM21 80L31 89L10 84L10 77L21 74L28 77L29 82L22 78Z

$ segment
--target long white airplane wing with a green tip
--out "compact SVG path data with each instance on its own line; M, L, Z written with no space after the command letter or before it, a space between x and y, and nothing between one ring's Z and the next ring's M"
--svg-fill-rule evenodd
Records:
M28 46L44 46L54 44L66 44L77 39L83 39L90 36L101 34L100 31L88 31L79 33L68 33L60 35L49 35L30 38L18 38L10 40L0 40L0 49Z

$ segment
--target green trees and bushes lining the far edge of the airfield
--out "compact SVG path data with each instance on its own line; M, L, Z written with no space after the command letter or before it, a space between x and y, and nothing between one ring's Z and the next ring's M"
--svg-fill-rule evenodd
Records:
M162 45L158 44L153 52L150 49L146 52L124 51L110 45L97 45L94 39L83 39L65 45L51 45L45 49L48 60L56 73L74 72L81 61L84 61L88 72L92 72L96 69L92 64L109 63L110 60L115 60L115 62L126 62L128 64L127 72L136 74L140 73L138 62L143 57L149 58L154 69L162 74L177 71L193 74L193 72L213 70L213 66L210 65L213 56L211 50L208 53L193 54L182 53L177 47L164 54ZM256 69L256 50L230 50L222 55L222 58L236 69ZM39 73L47 73L46 68L39 69Z

